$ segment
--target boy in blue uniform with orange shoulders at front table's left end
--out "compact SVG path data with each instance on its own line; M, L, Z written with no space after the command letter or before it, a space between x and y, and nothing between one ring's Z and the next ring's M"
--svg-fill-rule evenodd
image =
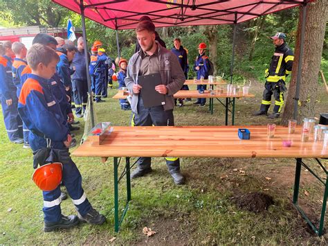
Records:
M60 186L53 191L43 191L44 196L44 231L58 228L67 229L82 222L102 224L106 218L91 207L82 188L82 177L71 157L68 147L71 135L66 118L53 96L49 79L56 71L59 57L53 49L43 44L34 44L27 55L32 73L21 89L18 110L24 123L30 129L30 146L33 151L51 148L59 153L62 162L62 182L78 211L78 216L64 216L60 209ZM48 143L47 143L48 142Z

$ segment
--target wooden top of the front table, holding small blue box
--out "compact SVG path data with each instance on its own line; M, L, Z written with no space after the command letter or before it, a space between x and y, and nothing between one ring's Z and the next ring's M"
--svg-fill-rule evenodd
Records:
M238 138L238 128L250 130L250 140ZM247 126L113 126L113 132L100 145L87 139L73 152L79 157L275 157L328 158L322 141L300 141L302 128L288 134L277 126L275 137L266 137L266 125ZM106 134L106 132L105 132ZM282 140L291 140L283 147Z

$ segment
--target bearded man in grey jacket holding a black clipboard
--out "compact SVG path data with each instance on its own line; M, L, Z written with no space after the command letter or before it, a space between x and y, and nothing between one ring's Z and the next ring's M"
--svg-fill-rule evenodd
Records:
M183 86L185 76L178 58L171 51L165 49L155 41L155 26L151 21L140 21L136 27L136 35L140 44L140 51L129 60L125 85L129 89L131 98L131 125L174 125L174 98L176 91ZM155 90L165 95L165 104L156 107L143 105L140 96L138 76L159 73L162 85ZM166 157L167 168L175 184L184 184L185 179L180 173L180 160L175 157ZM131 173L131 178L142 177L152 172L151 158L140 157L138 167Z

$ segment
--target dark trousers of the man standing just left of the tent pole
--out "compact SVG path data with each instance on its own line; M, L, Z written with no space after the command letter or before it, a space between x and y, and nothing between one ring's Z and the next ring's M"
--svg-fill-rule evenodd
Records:
M82 114L88 101L88 84L86 80L72 80L75 113Z

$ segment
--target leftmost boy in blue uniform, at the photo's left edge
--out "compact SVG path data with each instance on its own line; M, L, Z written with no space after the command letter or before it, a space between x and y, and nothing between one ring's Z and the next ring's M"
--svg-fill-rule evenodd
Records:
M23 143L23 125L17 112L17 89L12 82L12 62L14 55L10 41L0 42L0 98L3 120L8 138L12 143Z

